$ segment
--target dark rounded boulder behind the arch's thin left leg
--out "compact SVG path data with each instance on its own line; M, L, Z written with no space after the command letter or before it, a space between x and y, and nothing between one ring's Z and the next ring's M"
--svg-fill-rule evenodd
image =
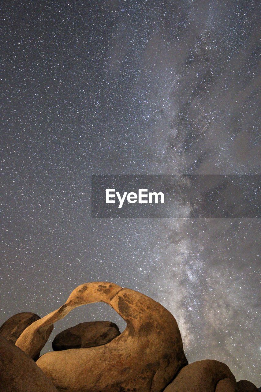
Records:
M34 321L39 320L38 314L32 312L22 312L11 316L8 320L4 322L0 327L0 336L15 343L19 336L24 332L24 330L33 324ZM53 330L53 325L50 325L45 334L45 342L49 339L51 332ZM38 351L33 359L36 361L40 356L40 351Z

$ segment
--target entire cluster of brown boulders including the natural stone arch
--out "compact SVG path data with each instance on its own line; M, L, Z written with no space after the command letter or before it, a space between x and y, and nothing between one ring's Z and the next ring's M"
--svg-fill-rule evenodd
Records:
M56 336L54 352L33 362L53 323L75 307L101 301L126 321L122 334L109 321L80 323ZM10 342L0 337L0 392L258 391L249 381L237 383L219 361L188 365L170 312L153 299L113 283L83 284L64 305L41 319L33 313L16 314L2 325L1 334Z

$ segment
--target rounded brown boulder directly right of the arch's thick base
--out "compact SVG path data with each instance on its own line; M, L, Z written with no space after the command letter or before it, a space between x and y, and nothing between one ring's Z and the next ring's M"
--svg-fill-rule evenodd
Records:
M226 381L220 383L223 379ZM218 384L217 392L236 392L236 379L227 365L205 359L183 367L164 392L215 392ZM224 386L227 386L227 390Z

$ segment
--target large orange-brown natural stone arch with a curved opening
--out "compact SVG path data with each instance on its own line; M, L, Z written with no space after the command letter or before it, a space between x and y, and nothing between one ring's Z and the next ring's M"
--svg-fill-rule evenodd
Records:
M54 351L37 365L59 391L160 392L187 359L172 314L153 299L113 283L77 287L62 307L31 324L16 345L29 356L43 347L46 328L75 307L103 301L120 314L127 327L103 346Z

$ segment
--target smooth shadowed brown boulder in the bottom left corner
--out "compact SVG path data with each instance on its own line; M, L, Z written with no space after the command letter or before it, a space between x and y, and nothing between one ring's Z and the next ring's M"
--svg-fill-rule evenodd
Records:
M0 392L57 392L57 389L33 359L0 337Z

